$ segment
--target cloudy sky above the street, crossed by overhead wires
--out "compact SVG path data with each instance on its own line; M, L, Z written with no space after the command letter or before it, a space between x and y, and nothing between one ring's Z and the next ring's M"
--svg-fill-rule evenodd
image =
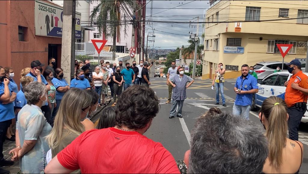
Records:
M147 3L150 0L147 0ZM187 3L187 4L186 4ZM170 0L153 0L149 2L146 7L146 20L149 20L151 15L151 6L152 9L152 20L153 21L185 21L189 22L197 21L193 19L197 16L200 17L200 21L203 20L203 13L204 10L209 6L209 1L193 1L193 0L180 0L180 1L170 1ZM176 7L179 6L179 7ZM169 8L181 8L181 9L170 9ZM157 9L157 8L166 8L166 9ZM183 9L188 8L188 9ZM197 8L197 9L196 9ZM167 10L167 11L165 11ZM161 12L163 11L163 12ZM156 14L157 13L157 14ZM174 20L179 19L179 20ZM194 24L196 25L196 24ZM202 35L202 24L199 24L199 36ZM152 27L155 29L155 42L154 48L156 49L176 49L176 47L181 47L182 45L187 46L187 40L189 40L189 33L193 32L196 33L197 27L190 27L189 23L173 23L173 24L166 24L166 23L150 23L146 22L145 25L145 45L147 40L148 32L152 32ZM166 33L168 32L168 33ZM170 34L173 33L173 34ZM185 36L186 35L186 36ZM150 40L150 38L149 38ZM153 42L148 42L148 45L153 48Z

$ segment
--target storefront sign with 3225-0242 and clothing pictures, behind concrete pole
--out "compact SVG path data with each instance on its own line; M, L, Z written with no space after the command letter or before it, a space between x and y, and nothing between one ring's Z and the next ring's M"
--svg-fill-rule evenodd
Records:
M75 38L81 39L81 13L75 14ZM62 37L63 8L35 1L35 35Z

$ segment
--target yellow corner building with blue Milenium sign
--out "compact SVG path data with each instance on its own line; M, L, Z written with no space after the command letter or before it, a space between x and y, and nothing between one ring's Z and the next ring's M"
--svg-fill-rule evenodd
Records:
M241 75L241 66L282 61L276 44L293 44L285 62L306 58L308 1L211 1L205 12L202 79L212 79L217 64L225 79ZM209 23L207 23L209 22Z

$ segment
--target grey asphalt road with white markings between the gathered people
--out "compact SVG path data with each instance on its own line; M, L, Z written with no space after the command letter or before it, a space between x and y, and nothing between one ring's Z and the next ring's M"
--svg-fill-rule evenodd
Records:
M152 67L152 69L155 68ZM154 70L151 70L151 76ZM151 78L150 87L156 92L160 99L160 111L153 121L151 128L145 135L154 141L161 142L171 152L174 158L183 159L184 153L190 148L190 132L194 128L196 118L203 115L216 102L216 93L211 89L210 80L195 80L195 83L187 89L187 99L183 106L183 118L175 117L169 119L171 104L165 104L168 97L168 86L166 78ZM235 79L226 80L225 98L227 107L218 105L222 111L232 112L235 93L233 91ZM220 103L222 104L222 103ZM258 112L250 112L250 121L253 121L256 128L263 130ZM300 173L308 173L308 126L300 125L300 141L304 144L304 159Z

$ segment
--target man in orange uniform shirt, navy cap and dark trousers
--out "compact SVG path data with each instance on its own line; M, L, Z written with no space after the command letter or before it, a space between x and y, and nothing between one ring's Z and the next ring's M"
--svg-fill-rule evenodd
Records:
M298 126L307 110L308 77L301 70L301 62L297 59L286 64L289 73L293 74L285 83L285 101L289 113L289 138L298 141Z

